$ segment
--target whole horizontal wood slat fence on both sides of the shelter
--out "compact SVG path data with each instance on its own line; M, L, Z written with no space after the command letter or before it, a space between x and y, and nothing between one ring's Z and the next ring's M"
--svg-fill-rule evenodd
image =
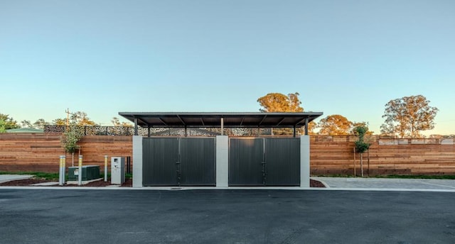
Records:
M310 140L311 174L353 174L355 136L311 135ZM455 174L453 139L373 138L371 143L363 154L364 174ZM131 136L87 135L80 145L84 165L100 165L102 171L105 155L109 169L110 157L132 156ZM0 171L58 172L59 155L64 154L58 134L0 134ZM70 167L71 155L66 157ZM358 153L355 159L360 174Z

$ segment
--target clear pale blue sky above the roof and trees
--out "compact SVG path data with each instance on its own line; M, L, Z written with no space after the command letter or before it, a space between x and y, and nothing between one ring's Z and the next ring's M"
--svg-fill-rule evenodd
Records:
M299 92L305 111L367 121L422 94L455 134L455 1L0 0L0 113L259 111Z

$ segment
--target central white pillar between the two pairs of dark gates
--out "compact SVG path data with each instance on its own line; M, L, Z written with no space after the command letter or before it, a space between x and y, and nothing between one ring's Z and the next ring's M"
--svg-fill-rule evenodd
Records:
M216 187L229 185L229 138L216 136Z

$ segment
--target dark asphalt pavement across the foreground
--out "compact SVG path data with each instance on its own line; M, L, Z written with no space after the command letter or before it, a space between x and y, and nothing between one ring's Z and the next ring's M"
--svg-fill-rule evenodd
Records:
M453 192L0 189L0 243L455 243Z

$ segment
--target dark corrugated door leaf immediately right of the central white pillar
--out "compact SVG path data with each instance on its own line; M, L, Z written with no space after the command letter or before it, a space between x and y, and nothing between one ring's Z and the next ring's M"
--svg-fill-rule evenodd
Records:
M229 185L264 185L264 139L230 138Z

